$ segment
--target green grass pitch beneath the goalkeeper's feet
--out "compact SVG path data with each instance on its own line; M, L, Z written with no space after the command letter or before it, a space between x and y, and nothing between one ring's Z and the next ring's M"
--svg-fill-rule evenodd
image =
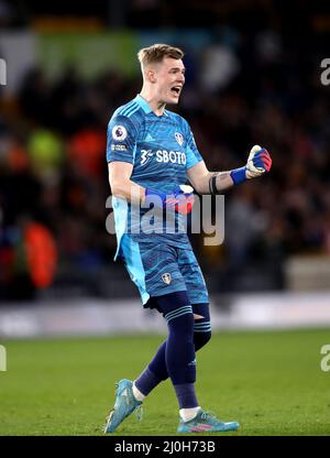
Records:
M0 436L102 435L114 382L133 379L162 336L8 340L0 372ZM200 405L229 435L330 435L330 372L320 368L329 329L226 331L197 353ZM168 381L116 435L176 435L178 407ZM221 433L220 433L221 434ZM210 435L210 434L209 434Z

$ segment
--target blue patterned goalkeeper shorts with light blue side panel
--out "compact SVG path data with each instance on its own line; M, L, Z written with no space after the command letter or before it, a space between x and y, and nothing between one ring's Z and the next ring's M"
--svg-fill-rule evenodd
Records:
M191 246L187 249L160 242L136 242L124 236L120 258L140 291L144 307L153 297L187 291L190 304L208 303L208 291Z

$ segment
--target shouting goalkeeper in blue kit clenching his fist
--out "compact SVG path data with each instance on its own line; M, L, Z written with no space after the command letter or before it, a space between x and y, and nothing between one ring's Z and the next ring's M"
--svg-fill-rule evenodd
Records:
M117 384L114 406L106 425L112 433L161 382L170 379L178 406L179 433L227 432L239 427L206 412L195 391L195 353L211 337L209 298L187 235L157 227L143 231L131 218L148 203L172 210L176 222L191 210L193 188L217 194L270 171L272 159L261 146L248 163L229 172L209 172L180 116L165 109L176 105L185 84L184 53L155 44L138 54L143 75L141 92L118 108L108 127L107 160L113 195L118 250L116 258L136 284L144 307L156 308L168 327L167 339L134 381Z

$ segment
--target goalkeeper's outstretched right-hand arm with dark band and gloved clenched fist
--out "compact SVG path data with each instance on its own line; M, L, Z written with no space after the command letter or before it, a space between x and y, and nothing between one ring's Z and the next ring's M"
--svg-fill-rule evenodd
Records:
M188 168L187 175L199 194L220 194L246 179L256 178L270 172L272 157L267 150L255 145L251 149L246 165L228 172L209 172L201 161Z

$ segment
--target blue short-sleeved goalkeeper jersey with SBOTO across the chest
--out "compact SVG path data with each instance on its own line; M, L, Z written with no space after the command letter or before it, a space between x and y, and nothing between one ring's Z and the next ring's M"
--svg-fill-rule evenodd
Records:
M187 182L187 170L202 157L197 150L188 122L177 113L164 110L156 116L148 103L138 95L133 100L118 108L108 126L107 161L133 164L131 181L148 189L170 194L178 185ZM133 206L113 197L118 253L124 233L136 242L155 241L178 248L190 248L186 233L167 230L145 233L132 230ZM143 217L147 209L139 209ZM176 218L180 216L176 215ZM140 220L141 222L141 220ZM165 222L165 218L163 223Z

